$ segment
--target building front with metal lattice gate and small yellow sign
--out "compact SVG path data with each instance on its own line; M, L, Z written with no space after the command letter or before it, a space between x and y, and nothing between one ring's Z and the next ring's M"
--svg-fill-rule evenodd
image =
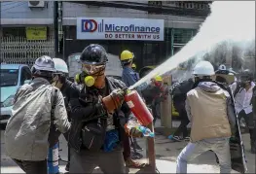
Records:
M54 56L54 2L4 1L1 12L1 62L32 64L43 54Z

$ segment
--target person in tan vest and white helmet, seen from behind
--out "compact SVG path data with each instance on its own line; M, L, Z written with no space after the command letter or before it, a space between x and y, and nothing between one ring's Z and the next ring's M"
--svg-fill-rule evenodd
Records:
M212 81L210 62L199 62L193 72L196 87L187 93L186 111L192 122L190 143L177 157L177 173L187 173L187 163L206 151L219 158L220 173L231 173L230 137L236 126L229 92Z

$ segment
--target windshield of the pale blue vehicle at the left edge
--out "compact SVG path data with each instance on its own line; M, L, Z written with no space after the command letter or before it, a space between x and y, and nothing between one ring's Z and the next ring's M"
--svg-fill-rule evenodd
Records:
M18 69L1 69L1 87L18 85Z

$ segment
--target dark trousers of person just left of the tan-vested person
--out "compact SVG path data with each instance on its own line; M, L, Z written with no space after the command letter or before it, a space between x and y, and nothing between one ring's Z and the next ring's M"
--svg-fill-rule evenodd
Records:
M174 136L179 136L181 133L183 134L183 137L187 137L188 136L188 128L187 125L189 124L189 119L187 116L187 112L185 110L185 108L182 109L178 109L177 112L179 113L179 118L180 118L180 125L177 128L177 130L174 133Z

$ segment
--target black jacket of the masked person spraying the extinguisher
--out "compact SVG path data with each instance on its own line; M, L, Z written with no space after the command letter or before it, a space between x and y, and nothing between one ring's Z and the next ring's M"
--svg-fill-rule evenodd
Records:
M115 88L125 88L126 85L112 77L106 77L106 86L109 94ZM82 147L82 128L87 122L97 122L102 117L102 106L98 100L99 93L96 88L73 84L70 88L71 130L69 132L69 145L77 152ZM124 103L120 110L115 111L113 118L120 135L124 133L124 125L128 122L130 114L128 105ZM122 137L120 138L122 140Z

